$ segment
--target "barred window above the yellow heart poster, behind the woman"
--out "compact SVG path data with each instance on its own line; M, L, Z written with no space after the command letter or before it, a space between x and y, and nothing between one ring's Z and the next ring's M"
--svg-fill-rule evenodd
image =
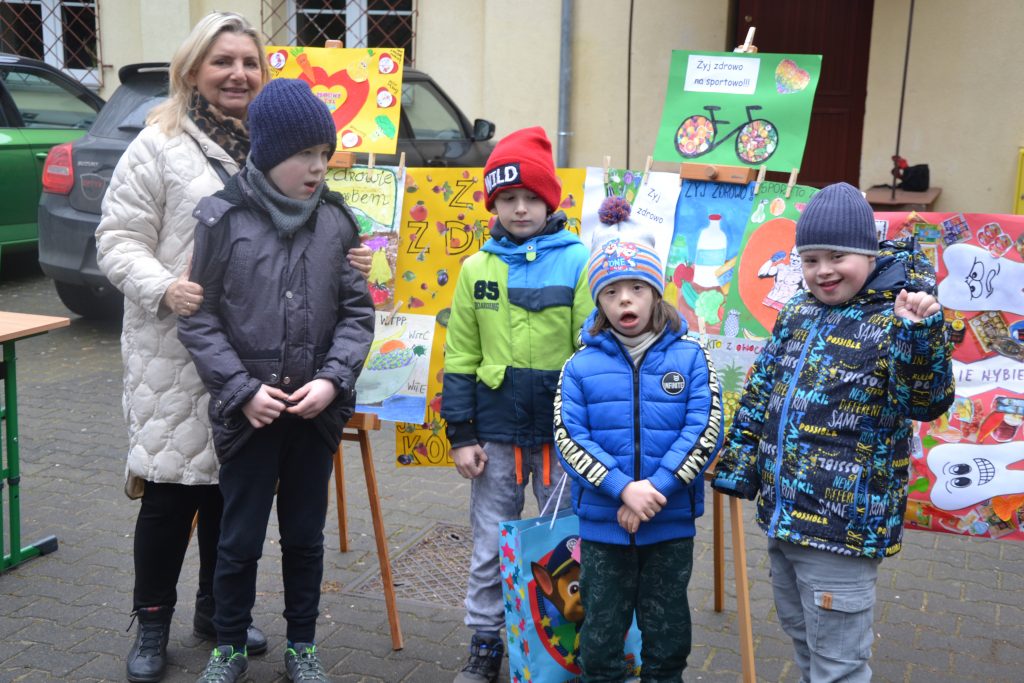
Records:
M267 45L402 47L415 63L414 0L263 0L261 18Z

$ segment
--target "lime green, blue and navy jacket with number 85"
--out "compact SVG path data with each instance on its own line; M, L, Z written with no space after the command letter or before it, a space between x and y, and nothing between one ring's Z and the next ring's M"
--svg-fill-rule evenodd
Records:
M590 254L564 213L522 244L507 236L496 221L456 285L441 393L453 446L551 443L558 373L594 308Z

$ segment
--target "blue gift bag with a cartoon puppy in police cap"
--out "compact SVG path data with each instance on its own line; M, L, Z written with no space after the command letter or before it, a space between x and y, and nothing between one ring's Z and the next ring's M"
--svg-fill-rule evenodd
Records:
M550 503L550 501L549 501ZM571 510L501 523L502 592L512 683L580 680L580 520ZM634 617L624 669L640 672Z

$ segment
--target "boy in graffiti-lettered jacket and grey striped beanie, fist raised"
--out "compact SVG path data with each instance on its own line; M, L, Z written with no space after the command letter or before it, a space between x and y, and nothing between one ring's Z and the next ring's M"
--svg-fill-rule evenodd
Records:
M911 420L952 404L935 272L878 242L857 188L828 185L797 221L807 291L782 308L713 486L758 498L782 629L804 681L866 682L882 558L900 551Z

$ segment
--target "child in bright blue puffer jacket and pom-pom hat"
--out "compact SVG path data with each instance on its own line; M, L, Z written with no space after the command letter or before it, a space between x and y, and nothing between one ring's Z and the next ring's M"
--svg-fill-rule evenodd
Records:
M705 347L663 298L657 254L612 241L590 260L596 310L562 369L555 443L580 517L583 679L623 680L636 612L643 680L679 680L701 474L722 441L722 398Z

